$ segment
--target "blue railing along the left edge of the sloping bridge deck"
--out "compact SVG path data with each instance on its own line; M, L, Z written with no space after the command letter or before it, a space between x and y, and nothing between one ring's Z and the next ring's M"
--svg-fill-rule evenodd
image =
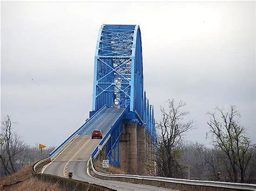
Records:
M55 150L53 150L53 151L49 154L49 157L52 158L52 157L53 157L58 151L60 151L67 143L69 143L70 140L71 140L73 137L75 137L76 135L78 135L79 132L83 131L83 130L86 128L87 124L89 124L89 123L91 122L92 118L94 118L95 116L97 116L97 115L100 113L100 111L102 111L102 110L103 110L104 108L106 108L106 107L107 107L107 105L104 105L104 107L100 108L92 117L90 117L90 119L88 119L87 122L85 122L82 126L80 126L80 128L78 128L75 132L73 132L73 133L71 134L71 136L69 136L68 138L66 138L66 140L64 140L64 142L63 142L62 144L60 144L58 147L56 147Z

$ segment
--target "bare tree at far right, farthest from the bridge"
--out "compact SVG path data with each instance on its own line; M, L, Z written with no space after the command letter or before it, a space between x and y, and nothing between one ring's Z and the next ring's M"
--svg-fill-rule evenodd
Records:
M215 108L215 112L208 112L210 116L207 122L210 127L213 145L225 153L227 165L231 169L228 173L234 182L245 181L246 170L252 158L250 138L246 135L244 126L239 124L239 112L235 106L231 106L229 112ZM207 135L206 135L207 136ZM226 161L224 160L224 162Z

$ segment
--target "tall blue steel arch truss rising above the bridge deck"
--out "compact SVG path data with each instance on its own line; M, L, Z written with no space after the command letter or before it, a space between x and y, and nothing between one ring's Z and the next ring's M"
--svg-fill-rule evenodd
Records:
M95 53L92 110L116 104L143 118L142 43L138 25L102 25Z

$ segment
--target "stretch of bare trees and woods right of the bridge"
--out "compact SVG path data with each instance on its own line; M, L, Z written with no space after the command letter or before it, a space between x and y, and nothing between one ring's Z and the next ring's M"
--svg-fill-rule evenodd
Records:
M256 183L256 146L240 124L240 114L232 105L228 111L215 108L208 112L206 138L212 147L188 143L186 132L195 129L193 121L186 121L186 103L167 101L168 107L160 108L161 119L156 122L156 164L157 176L198 180L217 180Z

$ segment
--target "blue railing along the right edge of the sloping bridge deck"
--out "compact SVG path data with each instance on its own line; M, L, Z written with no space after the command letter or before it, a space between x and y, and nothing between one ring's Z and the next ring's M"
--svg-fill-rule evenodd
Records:
M113 128L115 127L115 125L117 125L120 117L124 116L124 114L126 114L126 112L128 111L129 106L127 106L124 111L118 116L117 120L113 122L113 124L111 125L111 128L109 129L109 131L107 131L107 133L104 135L104 137L102 138L102 140L100 140L99 144L97 145L97 147L95 148L95 150L92 151L92 158L96 158L98 153L99 153L99 145L104 146L107 142L107 140L109 140L109 138L111 137L111 131L113 130ZM122 133L122 132L120 132Z

